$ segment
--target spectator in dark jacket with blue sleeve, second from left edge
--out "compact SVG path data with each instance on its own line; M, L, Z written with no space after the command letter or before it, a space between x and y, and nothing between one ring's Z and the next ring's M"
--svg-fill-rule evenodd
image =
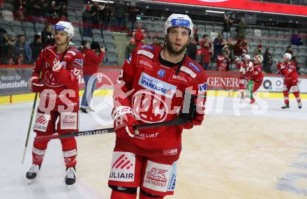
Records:
M19 35L17 38L15 54L17 54L17 64L31 64L32 51L24 35Z

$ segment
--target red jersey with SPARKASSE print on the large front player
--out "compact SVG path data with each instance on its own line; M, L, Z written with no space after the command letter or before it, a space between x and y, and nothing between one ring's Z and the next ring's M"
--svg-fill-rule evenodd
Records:
M185 57L179 74L179 64L160 57L162 47L142 45L133 50L123 64L123 71L114 89L114 108L120 105L133 108L140 124L171 121L178 117L187 88L204 108L207 78L202 67ZM117 145L141 155L173 155L181 151L181 126L164 126L139 130L135 138L117 138ZM133 143L133 145L132 145Z

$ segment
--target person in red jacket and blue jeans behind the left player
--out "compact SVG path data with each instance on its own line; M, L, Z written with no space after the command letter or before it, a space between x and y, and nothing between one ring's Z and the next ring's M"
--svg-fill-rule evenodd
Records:
M91 98L93 97L93 91L95 91L98 66L105 55L105 48L100 47L99 43L91 43L91 50L87 50L84 56L84 68L83 68L83 79L84 79L84 94L82 96L82 102L80 110L87 113L87 110L94 111L91 108ZM89 81L89 80L92 81Z

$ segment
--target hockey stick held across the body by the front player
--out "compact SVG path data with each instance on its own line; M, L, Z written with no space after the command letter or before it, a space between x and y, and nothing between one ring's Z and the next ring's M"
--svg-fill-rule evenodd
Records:
M160 126L178 126L181 124L186 124L188 122L188 119L184 117L178 117L177 119L174 119L172 121L166 121L166 122L158 122L153 124L144 124L144 125L137 125L133 126L133 129L139 130L143 128L155 128ZM105 134L105 133L114 133L114 128L103 128L103 129L96 129L91 131L79 131L77 133L67 133L63 135L55 134L55 135L43 135L40 137L35 137L34 140L36 141L43 141L43 140L53 140L58 138L73 138L73 137L79 137L79 136L85 136L85 135L98 135L98 134Z

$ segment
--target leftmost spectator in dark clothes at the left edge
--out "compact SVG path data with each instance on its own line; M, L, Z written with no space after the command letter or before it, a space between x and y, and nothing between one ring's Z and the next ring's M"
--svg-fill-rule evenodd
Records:
M6 39L6 43L3 46L3 64L14 64L16 60L15 54L15 35L14 34L7 34L4 36Z

